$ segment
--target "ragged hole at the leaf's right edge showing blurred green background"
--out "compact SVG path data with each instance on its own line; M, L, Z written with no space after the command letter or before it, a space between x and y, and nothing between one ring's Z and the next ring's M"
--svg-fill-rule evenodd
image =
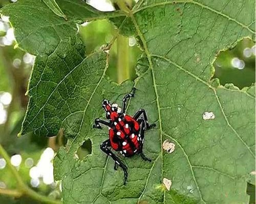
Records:
M240 89L255 83L255 42L240 40L235 47L222 50L215 62L215 74L221 85L232 83Z

